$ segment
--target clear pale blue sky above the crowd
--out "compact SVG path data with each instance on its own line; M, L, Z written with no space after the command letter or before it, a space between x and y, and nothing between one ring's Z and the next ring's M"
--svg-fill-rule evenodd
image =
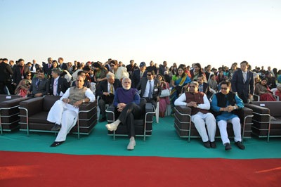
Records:
M0 0L0 57L281 69L280 0Z

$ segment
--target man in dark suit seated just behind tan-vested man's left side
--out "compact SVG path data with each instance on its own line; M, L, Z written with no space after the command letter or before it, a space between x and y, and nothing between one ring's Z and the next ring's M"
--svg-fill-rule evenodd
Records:
M50 95L60 96L60 92L65 93L70 84L68 84L65 78L60 77L60 70L58 68L53 68L51 75Z

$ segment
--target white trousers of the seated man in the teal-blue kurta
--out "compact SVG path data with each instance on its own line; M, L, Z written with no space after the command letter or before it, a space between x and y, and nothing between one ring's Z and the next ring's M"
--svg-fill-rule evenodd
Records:
M228 123L233 124L233 132L234 132L234 141L242 141L241 138L241 124L239 117L233 117L230 120L221 120L218 122L218 128L220 129L221 133L221 141L223 141L223 145L226 143L230 143L228 139L228 132L226 131L226 127Z

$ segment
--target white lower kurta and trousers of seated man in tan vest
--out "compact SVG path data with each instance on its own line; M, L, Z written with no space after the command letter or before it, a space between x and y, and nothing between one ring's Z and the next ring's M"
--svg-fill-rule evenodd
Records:
M63 101L55 101L47 117L48 122L61 125L55 141L65 141L67 134L77 122L78 110L78 108L65 104Z

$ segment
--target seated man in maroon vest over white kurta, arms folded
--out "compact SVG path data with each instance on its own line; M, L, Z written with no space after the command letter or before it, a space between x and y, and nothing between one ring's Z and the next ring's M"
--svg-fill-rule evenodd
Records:
M203 145L206 148L216 148L215 134L216 134L216 120L214 115L209 112L210 103L205 93L198 91L199 84L191 82L189 92L181 94L176 99L175 105L187 105L191 108L191 121L200 134ZM207 125L208 134L205 124Z

